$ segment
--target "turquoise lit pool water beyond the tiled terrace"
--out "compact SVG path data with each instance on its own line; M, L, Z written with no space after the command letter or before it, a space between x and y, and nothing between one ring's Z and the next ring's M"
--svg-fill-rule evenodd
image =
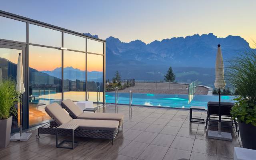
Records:
M194 99L188 104L188 95L184 94L141 94L133 93L133 105L144 106L163 106L174 108L190 108L191 106L204 106L207 102L218 102L218 96L195 95ZM235 96L221 96L221 102L234 102ZM115 103L115 93L106 92L106 103ZM119 93L118 104L129 104L129 93Z

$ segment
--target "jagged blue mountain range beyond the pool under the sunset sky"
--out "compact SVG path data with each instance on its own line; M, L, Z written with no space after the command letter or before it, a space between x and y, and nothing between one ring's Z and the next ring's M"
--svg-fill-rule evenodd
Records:
M155 40L149 44L141 40L122 42L110 36L106 39L106 79L112 79L118 70L124 79L163 80L172 66L179 82L198 79L201 84L213 86L218 44L224 65L239 52L251 49L240 36L218 38L213 33Z

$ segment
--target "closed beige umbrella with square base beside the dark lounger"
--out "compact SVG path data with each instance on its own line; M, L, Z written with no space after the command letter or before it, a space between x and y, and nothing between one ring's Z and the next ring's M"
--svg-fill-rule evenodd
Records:
M217 51L217 56L216 56L214 86L215 86L215 88L218 89L218 92L219 92L218 132L209 130L208 138L232 141L232 136L230 133L221 132L220 89L224 89L226 86L226 83L225 83L225 78L224 78L224 64L223 64L223 58L222 58L222 52L220 49L220 44L218 44L218 51Z

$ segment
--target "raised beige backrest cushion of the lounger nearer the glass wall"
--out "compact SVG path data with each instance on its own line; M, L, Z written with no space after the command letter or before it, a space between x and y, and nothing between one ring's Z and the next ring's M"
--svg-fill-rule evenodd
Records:
M63 100L60 105L72 114L71 116L73 118L77 118L77 116L83 113L83 111L70 99Z

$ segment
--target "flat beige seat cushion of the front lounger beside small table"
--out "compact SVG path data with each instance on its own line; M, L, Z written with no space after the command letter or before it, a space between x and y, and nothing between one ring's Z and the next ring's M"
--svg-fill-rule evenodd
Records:
M78 120L73 119L70 124L78 124L77 129L81 130L102 130L102 131L116 131L119 122L115 120Z

